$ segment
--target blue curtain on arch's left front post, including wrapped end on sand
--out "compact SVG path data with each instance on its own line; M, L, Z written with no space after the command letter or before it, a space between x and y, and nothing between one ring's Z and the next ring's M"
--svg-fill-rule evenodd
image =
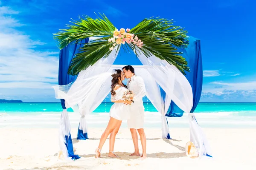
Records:
M78 53L79 48L81 48L83 46L83 44L88 43L88 42L89 42L89 38L86 38L76 44L70 43L65 48L61 49L60 55L59 55L58 85L67 85L70 82L76 81L77 76L71 76L71 75L67 74L68 68L70 66L72 59ZM67 109L65 107L64 99L61 99L61 106L64 110ZM68 114L67 115L63 115L63 114L67 114L67 111L63 111L63 113L61 115L61 126L70 127ZM60 127L60 128L62 128L62 127ZM67 153L68 153L67 156L71 157L72 159L79 159L80 157L78 155L74 154L73 143L72 143L72 138L71 138L71 134L70 134L70 128L68 129L68 131L69 132L66 132L67 134L63 134L64 136L60 136L60 138L64 137L64 139L65 139L65 146L66 146ZM60 140L60 141L62 141L62 140ZM60 144L60 146L62 146L62 145L63 144ZM63 150L64 148L61 148L61 149Z

